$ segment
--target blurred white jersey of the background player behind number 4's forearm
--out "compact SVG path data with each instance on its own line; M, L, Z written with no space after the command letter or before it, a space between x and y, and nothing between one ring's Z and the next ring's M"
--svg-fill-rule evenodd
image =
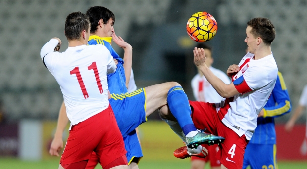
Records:
M210 70L215 76L221 79L225 84L230 84L230 78L221 70L210 67ZM195 75L191 81L191 86L194 94L194 98L197 101L209 102L209 103L219 103L223 99L213 86L207 81L204 75Z

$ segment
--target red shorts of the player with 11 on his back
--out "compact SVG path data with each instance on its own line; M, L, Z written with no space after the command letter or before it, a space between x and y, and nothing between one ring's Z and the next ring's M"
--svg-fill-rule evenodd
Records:
M126 154L111 106L71 127L60 164L63 166L87 161L93 151L102 168Z

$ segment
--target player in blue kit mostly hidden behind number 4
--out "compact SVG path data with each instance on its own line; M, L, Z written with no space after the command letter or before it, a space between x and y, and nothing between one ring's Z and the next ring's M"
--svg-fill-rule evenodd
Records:
M282 74L278 72L272 94L258 115L257 127L246 146L243 169L278 169L274 118L291 111L290 97Z

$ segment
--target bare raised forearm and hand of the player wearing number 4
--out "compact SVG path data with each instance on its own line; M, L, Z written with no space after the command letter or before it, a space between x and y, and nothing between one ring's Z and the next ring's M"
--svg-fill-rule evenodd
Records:
M233 83L225 84L208 68L208 66L205 64L206 58L204 49L195 47L193 53L195 65L202 71L207 81L214 87L220 96L229 98L240 94Z

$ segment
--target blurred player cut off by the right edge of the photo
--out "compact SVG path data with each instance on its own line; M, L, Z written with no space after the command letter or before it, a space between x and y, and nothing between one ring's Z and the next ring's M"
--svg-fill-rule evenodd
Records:
M295 122L297 119L302 115L302 113L306 110L307 107L307 85L304 86L298 107L295 109L294 113L292 114L291 118L288 120L288 122L285 125L285 130L288 132L291 132ZM307 120L306 120L306 131L305 131L305 138L303 140L302 146L301 146L301 154L306 155L307 154Z

